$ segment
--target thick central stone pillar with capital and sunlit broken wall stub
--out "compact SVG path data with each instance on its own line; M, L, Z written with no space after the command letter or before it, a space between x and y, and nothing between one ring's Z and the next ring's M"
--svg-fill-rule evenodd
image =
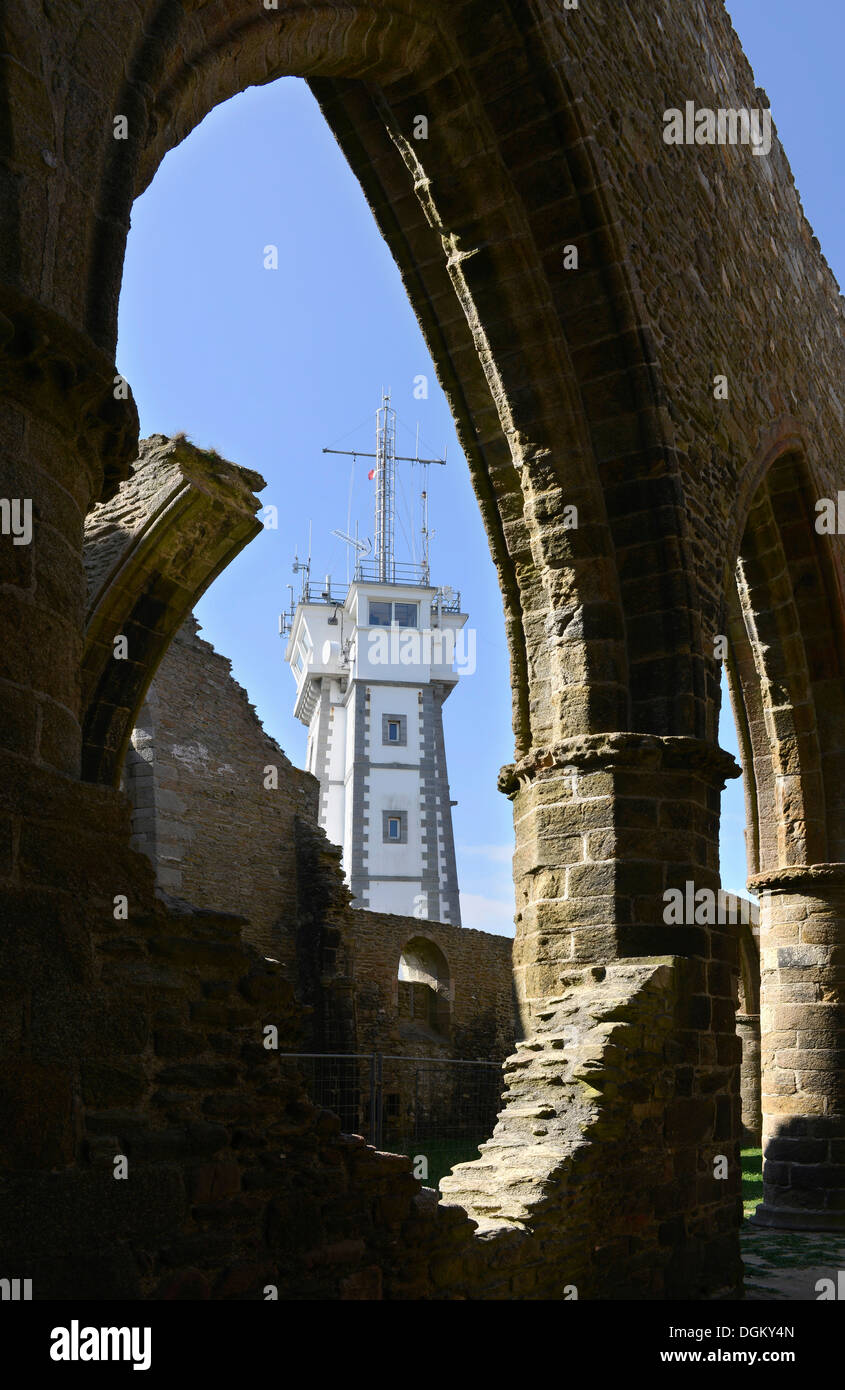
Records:
M502 776L524 1041L492 1140L442 1191L491 1236L541 1237L536 1297L741 1284L737 924L713 920L725 776L710 745L639 734L573 738ZM705 890L712 910L678 917L668 890Z

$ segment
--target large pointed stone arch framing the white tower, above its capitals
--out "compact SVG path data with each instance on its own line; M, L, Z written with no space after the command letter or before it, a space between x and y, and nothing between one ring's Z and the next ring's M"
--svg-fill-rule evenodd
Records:
M189 26L179 15L161 4L128 64L132 133L104 153L92 336L114 342L129 207L164 153L249 83L307 76L450 396L500 575L517 755L596 728L705 737L682 493L646 316L577 93L531 25L502 15L503 74L435 6L399 17L243 0ZM510 154L520 106L543 132L539 161ZM424 152L410 139L421 107ZM567 245L589 264L577 288ZM566 505L577 530L560 524Z

